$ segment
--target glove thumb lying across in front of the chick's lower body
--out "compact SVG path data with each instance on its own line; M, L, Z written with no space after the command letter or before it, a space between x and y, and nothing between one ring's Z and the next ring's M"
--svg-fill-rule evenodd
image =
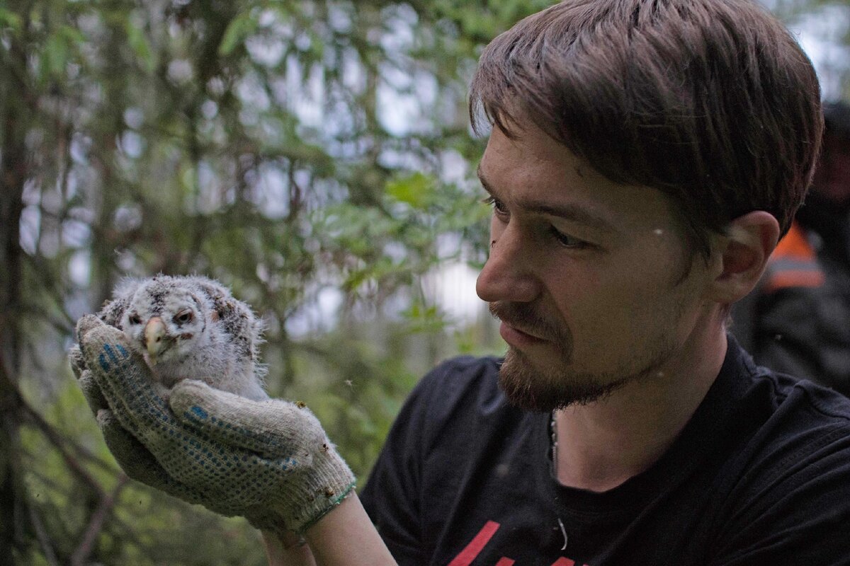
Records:
M195 379L176 384L168 402L175 417L211 440L263 457L303 459L328 445L319 419L303 405L252 401Z

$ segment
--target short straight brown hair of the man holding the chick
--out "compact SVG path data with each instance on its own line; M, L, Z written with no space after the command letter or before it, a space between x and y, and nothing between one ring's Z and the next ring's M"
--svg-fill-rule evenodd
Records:
M658 188L706 258L709 233L767 210L784 234L823 119L811 62L748 0L568 0L484 49L470 91L508 136L531 120L614 182Z

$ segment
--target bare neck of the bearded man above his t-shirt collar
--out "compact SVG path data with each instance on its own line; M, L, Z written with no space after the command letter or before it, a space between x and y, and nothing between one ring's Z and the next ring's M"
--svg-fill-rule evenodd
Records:
M655 463L693 416L723 365L726 334L686 344L651 377L554 413L558 481L606 491Z

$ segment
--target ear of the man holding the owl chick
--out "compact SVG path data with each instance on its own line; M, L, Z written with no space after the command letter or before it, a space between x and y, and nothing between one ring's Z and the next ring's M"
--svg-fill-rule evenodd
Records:
M754 210L735 218L718 239L720 265L711 283L711 299L731 304L744 298L762 277L779 241L779 222L769 212Z

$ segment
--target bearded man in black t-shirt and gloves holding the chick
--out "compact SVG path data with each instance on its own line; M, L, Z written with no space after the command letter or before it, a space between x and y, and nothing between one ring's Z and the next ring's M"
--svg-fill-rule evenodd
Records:
M471 100L504 361L422 379L361 507L309 413L191 382L166 405L83 319L127 473L245 515L271 563L850 563L850 401L725 329L818 154L793 38L745 0L570 0L490 44Z

